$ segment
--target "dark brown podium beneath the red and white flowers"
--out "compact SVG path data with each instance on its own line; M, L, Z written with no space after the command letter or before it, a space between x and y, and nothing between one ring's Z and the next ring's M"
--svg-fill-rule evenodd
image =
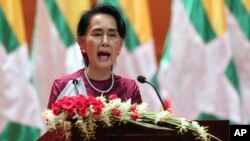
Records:
M201 126L208 127L208 133L219 138L222 141L229 140L229 121L197 121ZM168 127L170 125L162 125ZM172 128L173 129L173 128ZM184 134L177 131L166 131L161 129L152 129L144 126L127 123L125 125L116 125L109 128L97 128L96 139L91 141L194 141L196 136L188 131ZM63 131L60 129L48 131L42 135L38 141L63 141ZM83 140L77 129L72 129L72 140ZM211 138L211 141L214 139Z

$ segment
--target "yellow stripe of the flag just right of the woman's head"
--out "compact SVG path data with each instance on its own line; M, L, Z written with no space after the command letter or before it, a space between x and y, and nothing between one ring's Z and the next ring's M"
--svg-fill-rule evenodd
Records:
M148 1L120 0L120 4L128 17L130 24L134 28L140 43L145 43L152 39ZM138 17L140 17L141 20L138 20Z

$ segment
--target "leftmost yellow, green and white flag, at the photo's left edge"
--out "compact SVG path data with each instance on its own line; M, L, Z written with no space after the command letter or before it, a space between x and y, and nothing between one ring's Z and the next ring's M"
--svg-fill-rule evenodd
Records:
M43 129L23 19L20 0L0 1L0 140L5 141L35 141Z

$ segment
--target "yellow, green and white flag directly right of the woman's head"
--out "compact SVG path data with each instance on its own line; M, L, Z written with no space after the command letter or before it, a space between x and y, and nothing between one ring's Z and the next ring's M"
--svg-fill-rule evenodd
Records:
M157 63L154 39L147 0L101 0L115 6L125 20L127 35L114 71L122 76L137 79L143 75L157 85ZM148 84L138 83L142 101L148 103L149 111L159 111L161 104L154 89Z

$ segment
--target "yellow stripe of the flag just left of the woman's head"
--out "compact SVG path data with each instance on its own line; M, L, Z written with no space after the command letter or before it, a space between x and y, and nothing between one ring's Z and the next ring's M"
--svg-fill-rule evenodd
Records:
M73 35L76 35L77 22L83 11L90 9L89 0L56 0Z

